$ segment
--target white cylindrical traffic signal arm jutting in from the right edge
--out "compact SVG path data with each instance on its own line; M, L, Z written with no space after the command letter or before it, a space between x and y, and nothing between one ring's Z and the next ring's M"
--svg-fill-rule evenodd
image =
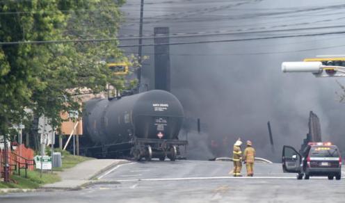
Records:
M331 72L327 73L327 71ZM318 77L345 76L345 67L323 65L320 61L283 62L282 72L312 72L314 76Z

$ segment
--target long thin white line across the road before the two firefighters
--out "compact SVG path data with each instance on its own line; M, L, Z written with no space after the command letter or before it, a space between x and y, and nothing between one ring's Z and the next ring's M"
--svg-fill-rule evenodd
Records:
M120 182L130 181L186 181L186 180L205 180L205 179L296 179L296 177L186 177L186 178L166 178L166 179L118 179ZM312 177L321 179L321 177Z

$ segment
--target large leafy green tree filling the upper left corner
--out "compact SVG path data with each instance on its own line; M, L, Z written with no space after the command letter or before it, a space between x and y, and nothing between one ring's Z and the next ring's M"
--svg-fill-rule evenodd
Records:
M119 0L0 1L0 42L114 38ZM0 134L30 108L58 127L60 113L80 109L78 88L100 92L116 83L102 60L127 60L118 41L11 44L0 47ZM74 91L70 91L74 89Z

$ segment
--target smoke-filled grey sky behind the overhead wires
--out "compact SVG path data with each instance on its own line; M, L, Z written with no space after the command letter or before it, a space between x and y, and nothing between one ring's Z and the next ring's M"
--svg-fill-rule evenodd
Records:
M121 10L126 21L119 35L137 35L140 1L128 0ZM321 121L323 140L345 152L345 104L336 95L342 92L337 81L345 84L345 80L281 71L284 61L345 54L345 35L331 34L345 30L344 11L344 1L145 0L144 35L153 35L154 27L168 26L170 35L194 35L172 37L170 42L241 40L170 45L171 92L186 117L200 118L203 127L202 135L191 132L188 137L193 142L189 156L211 158L205 147L210 140L219 145L220 152L214 154L230 156L241 137L252 140L257 156L279 161L283 145L300 148L310 111ZM222 32L227 34L214 35ZM209 35L195 36L200 33ZM137 54L138 48L124 51ZM152 89L153 47L144 47L143 54L150 57L143 64L143 83ZM275 152L269 145L268 121Z

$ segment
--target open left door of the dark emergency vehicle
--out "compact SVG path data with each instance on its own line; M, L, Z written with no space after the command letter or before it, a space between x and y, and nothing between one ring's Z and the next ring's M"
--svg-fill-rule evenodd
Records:
M300 163L302 156L294 149L294 147L282 147L282 170L284 172L300 173Z

